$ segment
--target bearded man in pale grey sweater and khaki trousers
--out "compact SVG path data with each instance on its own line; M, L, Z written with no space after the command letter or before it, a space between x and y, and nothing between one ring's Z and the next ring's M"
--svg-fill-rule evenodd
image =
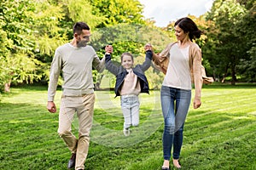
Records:
M90 27L77 22L73 26L73 40L55 50L49 75L47 109L51 113L56 112L54 98L60 73L64 79L58 133L72 152L67 167L75 170L84 169L89 149L95 103L92 67L103 71L105 64L105 59L100 60L96 51L87 45L89 41ZM112 51L112 46L106 47L106 53ZM71 132L75 112L79 119L78 139Z

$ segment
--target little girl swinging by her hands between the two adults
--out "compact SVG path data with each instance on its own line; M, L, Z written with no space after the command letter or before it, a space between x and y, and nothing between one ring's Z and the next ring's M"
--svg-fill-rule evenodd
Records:
M106 53L105 65L106 69L116 76L114 92L115 97L120 96L121 108L123 111L124 134L130 135L130 127L138 126L139 124L139 99L140 93L148 93L148 80L144 75L151 65L152 48L149 44L145 46L146 58L143 65L133 67L133 56L130 53L121 55L121 65L113 65L111 55Z

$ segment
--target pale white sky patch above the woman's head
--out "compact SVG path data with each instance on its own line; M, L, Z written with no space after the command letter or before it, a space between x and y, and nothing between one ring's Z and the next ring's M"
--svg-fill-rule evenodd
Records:
M155 26L164 27L170 21L188 16L205 14L213 0L139 0L143 4L146 19L155 20Z

